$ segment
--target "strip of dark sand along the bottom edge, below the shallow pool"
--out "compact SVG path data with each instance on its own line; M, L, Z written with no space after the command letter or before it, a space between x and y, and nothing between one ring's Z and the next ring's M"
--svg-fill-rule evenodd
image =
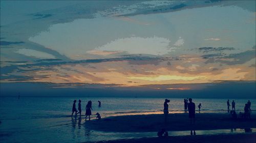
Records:
M147 137L147 138L138 138L138 139L119 139L111 141L100 141L106 143L254 143L256 142L256 134L227 134L227 135L193 135L193 136L170 136L167 138L160 137Z

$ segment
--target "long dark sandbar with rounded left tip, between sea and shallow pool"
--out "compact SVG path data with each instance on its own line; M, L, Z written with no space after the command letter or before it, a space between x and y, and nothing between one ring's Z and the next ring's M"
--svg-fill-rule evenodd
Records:
M187 113L168 115L168 123L163 123L164 115L134 115L104 118L87 121L84 126L91 130L107 132L158 132L165 128L167 131L190 130ZM228 113L197 113L195 130L214 130L232 128L256 128L256 116L251 119L232 120Z

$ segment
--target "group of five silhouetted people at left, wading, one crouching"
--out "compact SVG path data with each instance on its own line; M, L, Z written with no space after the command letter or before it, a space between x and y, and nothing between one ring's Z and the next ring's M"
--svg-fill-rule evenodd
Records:
M75 112L75 115L77 115L79 113L79 117L81 118L81 112L82 112L81 100L78 100L78 101L79 101L79 103L78 103L78 111L76 109L76 100L74 100L74 102L73 102L72 115L71 115L72 118L73 118L74 112ZM99 106L98 107L101 107L101 102L100 101L98 101L98 102L99 102ZM92 108L92 101L90 100L90 101L88 101L88 103L86 105L86 120L87 120L87 117L89 117L89 120L91 120L90 116L92 115L92 110L93 110L93 108ZM96 118L101 119L100 114L98 112L96 113L96 115L97 115Z

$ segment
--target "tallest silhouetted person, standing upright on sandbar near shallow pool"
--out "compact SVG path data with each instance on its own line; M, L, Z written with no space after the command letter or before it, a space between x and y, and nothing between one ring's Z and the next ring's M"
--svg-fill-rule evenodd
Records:
M189 98L188 99L189 103L188 103L188 117L190 119L190 126L191 126L191 130L190 130L190 135L193 135L192 130L194 130L194 135L196 135L196 131L195 131L195 116L196 116L196 105L194 102L192 102L192 99Z

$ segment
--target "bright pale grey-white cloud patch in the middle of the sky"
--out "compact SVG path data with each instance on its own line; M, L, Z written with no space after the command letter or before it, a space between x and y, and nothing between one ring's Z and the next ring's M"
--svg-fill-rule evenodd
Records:
M111 41L95 50L101 51L124 51L130 54L163 55L170 52L170 40L162 37L130 37L119 38Z

